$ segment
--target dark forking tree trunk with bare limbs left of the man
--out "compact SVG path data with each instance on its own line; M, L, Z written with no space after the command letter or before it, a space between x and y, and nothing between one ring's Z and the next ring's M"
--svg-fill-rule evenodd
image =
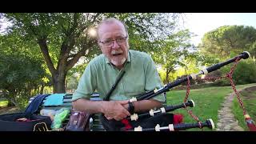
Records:
M75 17L74 23L76 23L76 20L77 19ZM74 24L74 27L75 25L76 24ZM69 39L70 44L67 45L68 42L66 41L62 42L61 51L58 58L58 65L56 68L54 67L54 63L50 58L50 53L46 42L47 36L38 39L38 45L40 46L43 57L45 58L46 65L50 70L50 74L52 74L54 93L66 93L65 79L67 71L70 70L76 62L78 62L79 58L85 56L86 53L89 54L90 52L86 51L90 51L90 48L94 46L94 44L96 44L96 41L94 39L89 39L86 44L82 45L82 50L79 50L77 54L72 54L73 56L70 57L70 50L74 48L76 38L74 35L74 30L75 29L71 28L70 33L66 36L66 38Z

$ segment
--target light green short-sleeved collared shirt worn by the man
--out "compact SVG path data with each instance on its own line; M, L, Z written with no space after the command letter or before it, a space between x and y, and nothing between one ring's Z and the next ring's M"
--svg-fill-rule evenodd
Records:
M110 95L110 100L126 100L162 87L158 71L149 54L129 50L124 70L126 73ZM90 98L95 90L98 91L100 98L104 98L119 74L120 70L113 66L104 54L99 55L86 66L72 101L78 98ZM163 94L159 94L154 99L165 102Z

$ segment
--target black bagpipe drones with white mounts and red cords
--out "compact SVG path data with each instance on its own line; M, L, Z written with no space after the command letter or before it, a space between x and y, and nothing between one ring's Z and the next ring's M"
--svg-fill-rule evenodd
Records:
M214 66L210 66L204 70L201 70L198 74L190 74L187 78L181 78L174 82L170 82L166 86L162 87L161 89L158 89L158 90L155 89L155 90L146 92L144 94L140 94L136 98L131 98L129 100L129 102L141 101L141 100L154 98L155 96L157 96L159 94L163 94L163 93L166 93L167 91L170 91L171 88L182 84L182 82L188 82L188 86L189 86L190 79L196 79L201 74L208 74L214 70L218 70L222 66L226 66L226 65L230 64L231 62L234 62L234 66L236 66L236 64L238 63L238 61L240 59L242 59L242 58L246 59L249 57L250 57L250 53L247 51L244 51L240 55L238 55L234 58L231 58L230 60L227 60L226 62L221 62L221 63L215 64ZM242 105L242 100L239 97L237 90L235 89L234 82L232 81L232 74L234 72L234 66L231 68L230 73L226 75L226 78L230 78L230 84L231 84L235 94L237 94L238 102L240 102L240 106L242 106L243 115L246 119L247 126L249 127L250 131L256 131L256 126L254 125L254 121L250 118L249 114L246 114L246 110L245 110L244 106ZM188 94L189 94L189 90L187 89L186 99L188 97ZM186 99L184 100L184 102L186 102ZM181 105L178 105L178 106L166 106L166 107L160 108L159 110L150 110L148 113L145 113L145 114L139 114L139 115L132 114L129 118L125 118L124 119L125 121L123 121L123 123L125 123L127 120L128 121L137 121L138 118L148 118L150 116L154 117L154 115L163 114L168 111L176 110L178 108L186 108L186 106L194 107L194 102L188 101L188 102L182 103ZM189 112L189 110L188 110L188 112ZM142 128L142 127L138 126L138 127L134 128L134 130L128 130L128 131L149 131L149 130L150 131L151 130L173 131L173 130L186 130L186 129L196 128L196 127L201 128L201 129L202 129L202 127L208 127L210 129L214 129L214 122L211 119L206 120L206 122L199 122L198 118L196 118L191 112L189 112L189 113L198 122L196 122L196 123L181 123L181 124L174 124L174 125L170 124L169 126L164 126L164 127L160 127L159 125L157 125L157 126L155 126L155 128Z

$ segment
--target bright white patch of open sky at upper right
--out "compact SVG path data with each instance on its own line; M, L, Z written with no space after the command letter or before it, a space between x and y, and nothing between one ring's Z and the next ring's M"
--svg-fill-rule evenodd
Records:
M245 25L256 29L256 13L186 13L180 25L197 35L192 43L198 46L203 34L219 26Z

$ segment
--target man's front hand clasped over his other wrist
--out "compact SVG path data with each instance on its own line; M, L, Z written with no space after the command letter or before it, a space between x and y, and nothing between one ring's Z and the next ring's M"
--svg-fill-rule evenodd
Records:
M126 110L127 103L129 101L109 101L104 104L104 110L103 113L105 114L105 117L107 119L115 119L117 121L122 120L123 118L126 118L127 116L130 116L130 113L128 110Z

